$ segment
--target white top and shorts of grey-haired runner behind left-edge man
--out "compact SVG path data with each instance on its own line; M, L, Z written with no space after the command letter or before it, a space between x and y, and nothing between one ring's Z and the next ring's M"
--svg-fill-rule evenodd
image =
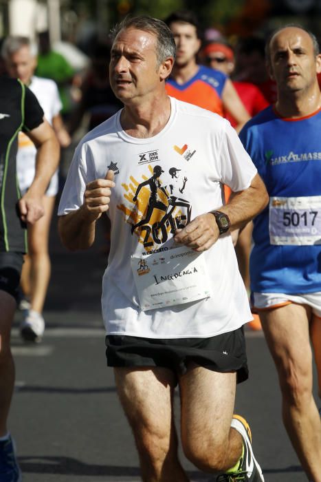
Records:
M32 77L28 86L43 108L45 118L52 124L52 118L59 114L61 104L56 83L49 78ZM36 147L28 136L19 132L19 149L16 156L16 173L21 193L30 187L34 180L36 166ZM54 196L58 191L58 171L54 174L47 191L48 196Z

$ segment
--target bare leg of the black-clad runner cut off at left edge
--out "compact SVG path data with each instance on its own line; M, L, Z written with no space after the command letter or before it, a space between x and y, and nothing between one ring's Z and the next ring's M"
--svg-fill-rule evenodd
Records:
M14 388L14 361L10 350L10 331L16 309L14 297L0 290L0 437L8 432L7 419Z

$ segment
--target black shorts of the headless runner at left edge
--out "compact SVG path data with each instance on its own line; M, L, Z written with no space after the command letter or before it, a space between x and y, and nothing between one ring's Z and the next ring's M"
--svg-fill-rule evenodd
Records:
M0 290L6 291L17 301L23 265L23 253L0 252Z

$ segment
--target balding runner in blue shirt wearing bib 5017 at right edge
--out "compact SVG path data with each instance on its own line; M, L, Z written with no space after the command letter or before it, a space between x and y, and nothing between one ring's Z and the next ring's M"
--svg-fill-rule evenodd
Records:
M283 397L283 421L309 481L321 481L321 424L312 394L311 323L321 323L321 56L315 36L281 28L267 43L278 100L241 140L265 180L250 277Z

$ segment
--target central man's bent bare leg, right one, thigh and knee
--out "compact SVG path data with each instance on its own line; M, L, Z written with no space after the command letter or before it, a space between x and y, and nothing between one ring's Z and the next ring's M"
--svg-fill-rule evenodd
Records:
M204 472L225 472L242 454L243 439L231 428L236 374L190 364L179 377L181 441L186 457Z

